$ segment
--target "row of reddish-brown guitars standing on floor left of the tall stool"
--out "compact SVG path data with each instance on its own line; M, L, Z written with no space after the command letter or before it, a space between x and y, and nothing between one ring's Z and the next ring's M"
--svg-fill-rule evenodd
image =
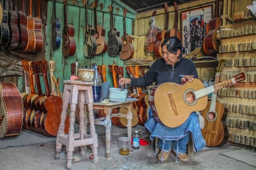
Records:
M50 90L47 78L48 62L46 60L22 60L22 66L25 75L25 93L22 94L24 103L24 128L49 137L57 136L62 111L62 99L58 89L59 79L56 81L55 77L52 76L54 62L52 60L49 61L49 67L51 82L53 81L57 87L57 93L53 91L53 89L55 90L55 86L52 87L52 92ZM42 93L40 73L44 79L46 94ZM35 90L35 87L37 90ZM69 117L67 116L65 133L68 133L68 130Z

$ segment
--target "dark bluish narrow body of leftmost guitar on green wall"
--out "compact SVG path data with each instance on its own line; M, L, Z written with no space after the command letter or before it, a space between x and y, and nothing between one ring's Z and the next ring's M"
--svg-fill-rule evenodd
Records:
M58 19L54 19L53 21L53 29L52 29L52 49L57 50L60 46L60 21Z

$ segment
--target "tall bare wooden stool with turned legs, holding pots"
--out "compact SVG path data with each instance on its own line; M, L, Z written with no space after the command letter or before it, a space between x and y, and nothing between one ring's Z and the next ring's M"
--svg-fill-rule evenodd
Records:
M86 145L91 145L93 152L93 162L98 163L98 138L94 126L94 115L93 115L93 82L80 82L80 81L64 81L65 86L62 97L62 112L59 130L56 138L56 155L55 160L59 160L62 145L66 145L67 150L67 169L71 169L72 158L75 147L80 147L80 155L86 154ZM75 111L77 101L79 101L79 133L74 133L75 123ZM87 122L87 116L84 117L84 103L87 103L89 111L89 122L90 122L90 135L87 134L87 127L84 126ZM70 103L70 128L69 134L65 134L65 120L67 117L68 104Z

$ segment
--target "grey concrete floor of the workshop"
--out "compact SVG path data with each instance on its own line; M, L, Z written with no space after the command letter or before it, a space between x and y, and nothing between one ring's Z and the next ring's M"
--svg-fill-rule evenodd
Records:
M143 128L137 125L132 128L132 131L143 130ZM139 150L131 150L129 155L123 156L118 152L117 143L118 138L126 136L127 133L125 128L116 126L112 126L111 132L111 159L106 160L104 130L104 126L96 125L99 162L93 163L89 158L91 154L89 147L86 156L82 157L79 155L79 148L75 148L72 169L256 169L247 163L221 155L221 153L244 149L230 144L225 144L221 148L206 147L190 157L188 162L178 161L176 163L176 156L171 153L168 160L161 163L156 159L151 142L148 145L140 145ZM65 147L60 160L54 160L55 139L55 137L49 138L28 130L22 130L19 136L14 138L0 139L0 169L66 169ZM148 137L144 139L148 140Z

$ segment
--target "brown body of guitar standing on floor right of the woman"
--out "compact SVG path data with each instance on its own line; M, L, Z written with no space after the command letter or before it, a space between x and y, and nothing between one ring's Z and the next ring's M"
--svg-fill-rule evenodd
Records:
M209 110L210 103L202 110L205 124L202 129L202 135L206 141L207 147L222 146L227 142L228 129L225 124L227 117L227 108L220 102L216 102L216 110L212 112Z

